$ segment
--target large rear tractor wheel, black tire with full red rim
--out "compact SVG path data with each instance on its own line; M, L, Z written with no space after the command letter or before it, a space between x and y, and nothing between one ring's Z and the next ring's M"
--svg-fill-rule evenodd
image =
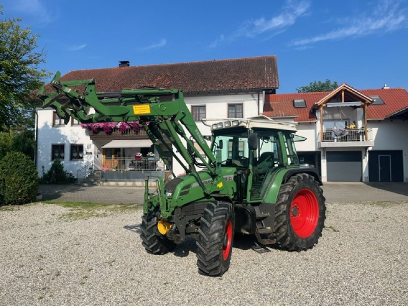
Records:
M282 248L312 248L322 236L326 207L312 175L298 173L282 184L275 205L274 237Z

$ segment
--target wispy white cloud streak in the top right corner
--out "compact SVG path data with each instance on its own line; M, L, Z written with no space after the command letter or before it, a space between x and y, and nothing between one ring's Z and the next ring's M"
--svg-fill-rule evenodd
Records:
M348 25L324 34L294 40L290 45L300 47L325 40L340 40L374 33L387 33L408 26L406 9L401 9L399 2L389 1L378 3L373 12L361 13L353 18L348 17L343 22Z

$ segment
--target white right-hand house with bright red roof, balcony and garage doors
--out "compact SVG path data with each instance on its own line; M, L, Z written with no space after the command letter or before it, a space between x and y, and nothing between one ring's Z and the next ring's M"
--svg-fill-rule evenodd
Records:
M297 122L301 163L322 181L408 182L408 93L403 88L265 96L264 115Z

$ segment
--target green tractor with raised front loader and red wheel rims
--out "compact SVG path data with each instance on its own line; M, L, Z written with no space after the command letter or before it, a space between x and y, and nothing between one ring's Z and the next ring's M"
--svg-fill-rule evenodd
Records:
M165 254L191 237L199 272L220 276L230 267L235 233L290 251L317 244L325 198L316 169L299 165L295 142L305 138L295 135L293 123L265 116L204 120L212 130L209 145L178 89L96 92L93 79L59 79L57 73L53 92L39 91L44 107L66 121L139 121L163 162L170 167L164 147L184 168L185 175L172 173L166 183L156 177L153 193L146 178L141 239L148 253Z

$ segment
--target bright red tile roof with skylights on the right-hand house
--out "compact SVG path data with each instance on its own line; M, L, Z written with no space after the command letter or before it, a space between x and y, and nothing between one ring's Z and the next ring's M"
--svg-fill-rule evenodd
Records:
M368 119L384 119L408 107L408 92L404 88L360 90L367 96L378 95L385 104L373 104L367 107ZM316 115L313 106L330 92L284 93L265 96L264 115L268 117L296 116L295 121L314 121ZM305 108L295 108L294 99L304 99Z

